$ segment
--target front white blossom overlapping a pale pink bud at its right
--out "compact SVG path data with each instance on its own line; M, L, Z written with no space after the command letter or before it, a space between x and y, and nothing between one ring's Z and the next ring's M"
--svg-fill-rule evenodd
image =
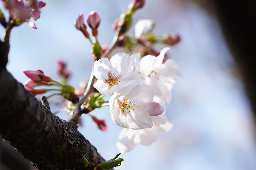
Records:
M131 81L109 100L112 120L124 128L151 128L152 120L146 109L153 100L152 86Z

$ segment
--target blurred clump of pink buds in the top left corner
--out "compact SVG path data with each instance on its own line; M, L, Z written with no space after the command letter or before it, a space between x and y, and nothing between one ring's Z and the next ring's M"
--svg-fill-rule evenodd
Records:
M28 26L36 29L34 22L29 19L32 17L34 20L40 18L40 8L46 6L46 3L43 1L37 0L26 0L28 1L26 5L23 0L2 0L4 7L9 11L10 23L13 26L18 26L24 22L28 22ZM0 20L3 26L6 26L5 19L0 12Z

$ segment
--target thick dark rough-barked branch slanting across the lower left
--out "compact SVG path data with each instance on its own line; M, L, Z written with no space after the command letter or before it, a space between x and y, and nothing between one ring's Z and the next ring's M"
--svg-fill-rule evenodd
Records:
M84 158L91 165L104 161L76 127L52 114L12 77L5 67L6 49L8 44L1 42L0 137L39 170L85 170Z

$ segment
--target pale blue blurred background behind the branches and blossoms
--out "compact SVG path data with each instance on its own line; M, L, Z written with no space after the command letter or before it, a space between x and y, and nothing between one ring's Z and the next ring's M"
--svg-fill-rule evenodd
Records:
M40 69L58 79L56 63L62 58L72 70L70 84L78 87L79 82L90 76L92 67L90 44L74 27L78 14L83 12L86 17L96 10L102 18L99 42L110 44L114 36L111 26L130 0L45 2L41 18L35 22L37 30L26 24L12 30L8 70L22 83L27 79L22 71L27 69ZM137 145L122 154L125 161L116 169L255 170L253 112L212 4L146 0L146 6L136 12L133 26L139 18L156 20L153 31L156 34L178 32L182 38L169 51L180 70L178 83L172 89L172 101L166 105L167 117L174 127L168 133L159 133L151 146ZM129 33L134 36L134 28ZM52 111L60 108L51 106ZM116 142L122 128L112 122L108 107L96 109L92 114L107 121L108 131L98 130L87 115L82 115L83 126L79 131L104 158L112 158L119 153ZM64 112L57 115L67 117ZM13 165L3 163L14 164L14 160L8 160L12 156L6 158L12 151L8 151L7 144L2 145L5 147L0 169L16 170ZM14 159L24 161L16 156ZM21 169L20 166L17 170Z

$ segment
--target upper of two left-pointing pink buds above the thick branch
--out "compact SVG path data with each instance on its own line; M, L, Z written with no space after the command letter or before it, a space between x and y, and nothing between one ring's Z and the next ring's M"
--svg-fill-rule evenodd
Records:
M44 76L44 72L41 70L25 70L24 74L34 82L40 82L40 81L45 81L45 82L50 82L51 78L48 76Z

